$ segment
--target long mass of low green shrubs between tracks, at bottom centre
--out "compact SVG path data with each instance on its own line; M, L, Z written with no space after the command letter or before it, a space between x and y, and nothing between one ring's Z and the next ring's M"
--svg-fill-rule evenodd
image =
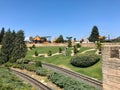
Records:
M51 73L48 78L60 88L64 88L64 90L96 90L92 86L86 85L56 72Z

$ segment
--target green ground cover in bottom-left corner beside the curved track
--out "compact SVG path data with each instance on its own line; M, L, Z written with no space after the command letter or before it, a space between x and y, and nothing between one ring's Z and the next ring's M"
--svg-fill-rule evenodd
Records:
M8 68L0 67L0 90L36 90L14 75Z

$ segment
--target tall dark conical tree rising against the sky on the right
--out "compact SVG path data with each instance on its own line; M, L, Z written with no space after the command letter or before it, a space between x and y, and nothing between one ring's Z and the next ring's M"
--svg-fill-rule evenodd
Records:
M99 41L99 31L98 31L97 26L93 27L91 35L88 39L91 42Z

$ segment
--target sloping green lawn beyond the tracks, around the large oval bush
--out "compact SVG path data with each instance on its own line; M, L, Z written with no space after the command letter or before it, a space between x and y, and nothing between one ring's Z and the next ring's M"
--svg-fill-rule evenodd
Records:
M64 47L62 47L64 49ZM82 51L85 51L85 50L88 50L88 49L91 49L91 48L84 48L82 47L79 51L82 52ZM70 59L72 56L70 56L71 54L71 50L72 48L68 48L67 49L67 54L68 56L64 56L64 55L57 55L57 56L51 56L51 57L32 57L32 55L34 55L34 52L35 51L38 51L39 53L47 53L49 50L51 50L53 53L56 53L59 51L59 47L39 47L39 48L35 48L31 51L28 51L27 52L27 55L26 55L26 59L30 59L30 60L40 60L42 62L47 62L47 63L52 63L52 64L55 64L55 65L60 65L60 66L64 66L64 67L67 67L71 70L74 70L76 72L79 72L79 73L82 73L82 74L85 74L85 75L88 75L90 77L94 77L96 79L99 79L99 80L102 80L102 69L101 69L101 60L91 66L91 67L88 67L88 68L78 68L78 67L74 67L70 64ZM89 52L86 52L86 53L95 53L95 50L94 51L89 51Z

